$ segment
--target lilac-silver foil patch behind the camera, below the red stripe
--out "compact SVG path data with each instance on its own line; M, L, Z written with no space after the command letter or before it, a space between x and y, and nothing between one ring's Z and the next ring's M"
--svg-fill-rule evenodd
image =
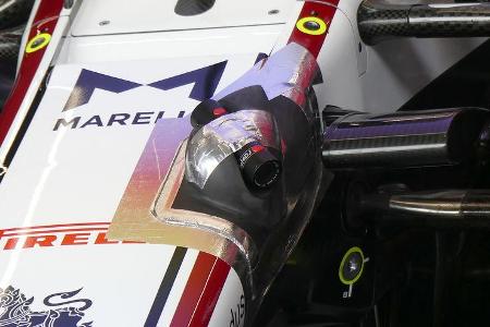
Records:
M283 95L303 107L306 92L319 72L315 57L304 47L293 43L270 58L259 61L250 71L212 98L219 100L238 89L260 85L268 99Z

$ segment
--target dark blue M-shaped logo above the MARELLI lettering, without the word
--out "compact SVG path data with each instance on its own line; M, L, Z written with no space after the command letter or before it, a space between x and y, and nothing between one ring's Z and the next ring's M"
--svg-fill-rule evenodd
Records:
M162 90L169 90L194 83L194 87L191 90L189 98L203 101L210 98L215 94L215 90L218 87L218 83L220 82L224 69L226 68L226 62L228 61L222 61L201 69L186 72L181 75L157 81L146 86L159 88ZM73 88L72 94L70 95L70 98L68 99L63 108L63 111L68 111L88 104L96 89L103 89L119 94L144 85L145 84L139 84L83 69L78 76L78 80L76 81L75 87Z

